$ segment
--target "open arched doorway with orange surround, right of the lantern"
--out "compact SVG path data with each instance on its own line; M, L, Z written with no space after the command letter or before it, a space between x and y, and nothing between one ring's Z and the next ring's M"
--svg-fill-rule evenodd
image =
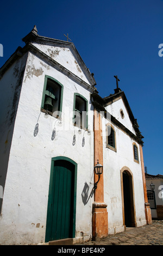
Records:
M121 169L123 225L136 227L133 174L128 167Z

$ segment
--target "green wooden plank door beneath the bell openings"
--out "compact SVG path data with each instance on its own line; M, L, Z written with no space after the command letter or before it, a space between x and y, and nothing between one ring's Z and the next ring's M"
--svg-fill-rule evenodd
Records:
M48 202L48 241L72 237L74 208L74 165L54 162L52 189Z

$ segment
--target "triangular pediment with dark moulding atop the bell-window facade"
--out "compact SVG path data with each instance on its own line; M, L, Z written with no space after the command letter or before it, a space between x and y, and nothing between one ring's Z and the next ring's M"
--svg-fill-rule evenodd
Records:
M96 85L95 78L87 69L73 42L40 36L37 34L35 27L22 40L26 44L34 45L39 51L45 53L85 83L90 84L92 87Z

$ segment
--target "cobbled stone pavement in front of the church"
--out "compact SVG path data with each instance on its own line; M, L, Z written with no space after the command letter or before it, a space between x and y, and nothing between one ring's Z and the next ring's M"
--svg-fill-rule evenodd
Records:
M75 245L163 245L163 221L152 221L151 225L127 228L126 231L108 235L101 241L88 241Z

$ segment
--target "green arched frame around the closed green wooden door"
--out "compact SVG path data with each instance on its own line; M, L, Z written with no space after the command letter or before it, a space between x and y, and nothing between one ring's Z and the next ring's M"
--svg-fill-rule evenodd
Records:
M72 227L72 237L75 237L76 232L76 198L77 198L77 166L78 164L74 162L72 159L65 156L57 156L52 157L51 161L51 174L49 180L49 194L48 194L48 206L47 206L47 221L46 221L46 234L45 234L45 242L49 242L50 239L50 224L51 224L51 204L53 197L53 174L54 174L54 162L57 160L64 160L67 162L71 162L74 165L74 198L73 198L73 227Z

